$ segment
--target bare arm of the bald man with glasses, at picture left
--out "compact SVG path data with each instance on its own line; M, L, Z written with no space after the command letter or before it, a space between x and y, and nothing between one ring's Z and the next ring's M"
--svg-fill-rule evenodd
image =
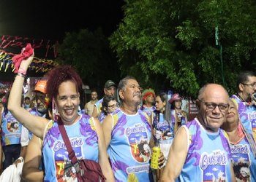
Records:
M178 178L187 157L187 144L187 131L184 127L181 127L176 133L173 144L170 147L167 164L161 178L162 182L173 182Z

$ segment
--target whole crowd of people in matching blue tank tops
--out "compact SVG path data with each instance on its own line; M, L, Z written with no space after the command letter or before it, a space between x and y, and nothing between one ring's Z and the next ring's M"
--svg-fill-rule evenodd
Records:
M0 105L3 171L22 163L20 178L26 181L77 181L59 130L63 124L75 156L98 162L106 181L256 181L256 75L251 71L238 75L232 96L220 84L201 87L198 114L189 121L181 95L142 91L132 76L118 84L108 80L99 100L92 90L80 111L82 80L72 66L49 71L37 82L34 98L22 104L33 58L21 61ZM154 146L161 150L157 170L150 167Z

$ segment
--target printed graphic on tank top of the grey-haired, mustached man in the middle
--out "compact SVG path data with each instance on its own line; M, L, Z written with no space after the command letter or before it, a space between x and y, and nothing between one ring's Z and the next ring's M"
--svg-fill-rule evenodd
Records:
M125 134L129 140L132 157L138 162L148 162L151 149L148 145L146 126L135 124L134 127L127 127Z

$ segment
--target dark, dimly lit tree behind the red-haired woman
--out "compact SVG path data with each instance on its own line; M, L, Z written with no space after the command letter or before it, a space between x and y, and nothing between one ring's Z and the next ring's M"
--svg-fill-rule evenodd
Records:
M58 62L72 65L85 84L98 90L102 90L106 80L119 79L116 58L100 28L94 32L83 29L66 33L59 47Z

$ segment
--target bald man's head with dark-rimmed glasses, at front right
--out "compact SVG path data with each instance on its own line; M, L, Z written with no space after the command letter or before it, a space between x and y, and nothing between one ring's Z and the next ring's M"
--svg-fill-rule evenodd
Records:
M217 132L226 119L228 109L227 92L219 84L208 84L204 90L202 100L198 102L200 105L197 118L206 130Z

